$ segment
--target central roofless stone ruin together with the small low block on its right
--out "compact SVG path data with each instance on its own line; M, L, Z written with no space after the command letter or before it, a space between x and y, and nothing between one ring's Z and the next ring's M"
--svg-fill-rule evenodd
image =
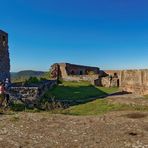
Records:
M108 77L108 75L114 76L114 73L118 75L119 71L103 71L97 67L75 65L70 63L55 63L51 66L51 68L53 78L62 78L64 81L89 81L92 85L104 87L119 86L119 79L113 78L111 80Z

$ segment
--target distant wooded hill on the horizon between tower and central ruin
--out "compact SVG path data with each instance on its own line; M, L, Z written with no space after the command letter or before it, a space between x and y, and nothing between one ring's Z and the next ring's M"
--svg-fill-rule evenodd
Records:
M11 72L11 81L24 81L30 77L44 77L47 72L45 71L33 71L23 70L19 72Z

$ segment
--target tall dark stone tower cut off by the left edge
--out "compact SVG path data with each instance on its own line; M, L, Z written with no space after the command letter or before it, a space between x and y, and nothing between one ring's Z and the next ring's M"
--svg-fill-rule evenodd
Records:
M10 79L10 59L8 51L8 34L0 30L0 81Z

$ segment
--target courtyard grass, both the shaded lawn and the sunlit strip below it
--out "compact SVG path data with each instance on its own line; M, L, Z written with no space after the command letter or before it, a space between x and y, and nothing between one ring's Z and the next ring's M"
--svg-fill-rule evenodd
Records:
M89 82L63 82L49 90L45 97L55 97L63 100L84 100L82 104L72 106L62 111L68 115L98 115L110 111L140 110L146 111L147 107L141 105L111 104L108 99L99 99L118 92L118 88L104 88L91 85ZM90 98L98 98L91 101ZM61 112L60 112L61 113Z

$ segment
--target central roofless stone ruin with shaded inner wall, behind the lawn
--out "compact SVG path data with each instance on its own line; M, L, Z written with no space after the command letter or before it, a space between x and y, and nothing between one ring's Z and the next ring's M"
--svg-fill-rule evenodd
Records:
M93 85L99 85L100 75L104 74L98 67L70 63L55 63L51 66L51 77L62 78L64 81L89 81Z

